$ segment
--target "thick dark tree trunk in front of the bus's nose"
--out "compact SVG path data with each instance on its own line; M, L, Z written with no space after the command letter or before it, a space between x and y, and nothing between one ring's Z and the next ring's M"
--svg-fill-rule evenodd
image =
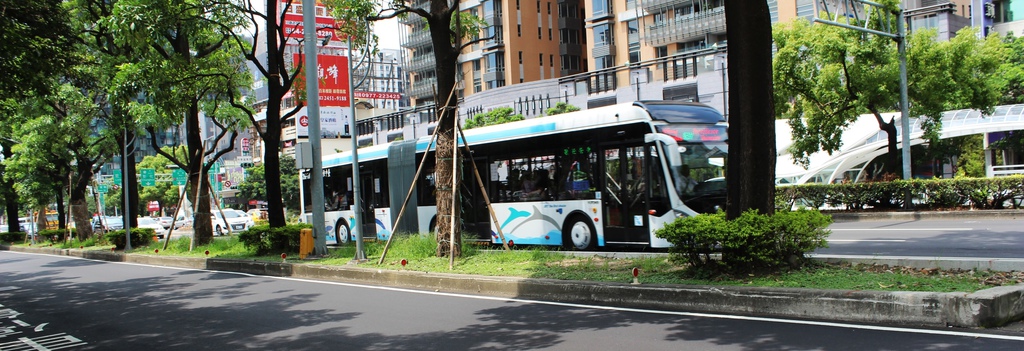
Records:
M775 212L775 107L768 3L726 1L729 24L728 218Z

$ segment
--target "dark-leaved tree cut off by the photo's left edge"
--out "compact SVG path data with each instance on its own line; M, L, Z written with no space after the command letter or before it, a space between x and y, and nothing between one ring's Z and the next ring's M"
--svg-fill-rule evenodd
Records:
M46 95L59 77L75 62L66 50L75 41L62 0L0 0L0 196L11 228L17 228L18 198L14 184L5 176L6 162L14 156L13 137L18 123L16 100ZM45 59L43 59L45 58Z

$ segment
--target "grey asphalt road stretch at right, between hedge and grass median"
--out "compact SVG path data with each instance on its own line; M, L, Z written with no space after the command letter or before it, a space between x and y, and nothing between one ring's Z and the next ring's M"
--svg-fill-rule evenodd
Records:
M826 255L1024 258L1024 222L1014 219L837 222Z

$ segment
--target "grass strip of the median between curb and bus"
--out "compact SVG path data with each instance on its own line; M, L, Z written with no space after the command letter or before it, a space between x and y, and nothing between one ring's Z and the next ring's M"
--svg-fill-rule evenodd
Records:
M86 246L92 244L93 246ZM45 247L45 244L37 244ZM163 242L146 247L136 247L133 254L180 257L210 257L225 259L282 262L281 254L255 256L236 236L218 238L208 246L188 250L188 238L171 240L167 250ZM641 283L745 286L770 288L804 288L852 291L911 291L911 292L965 292L971 293L996 286L1017 284L1024 281L1022 272L942 271L938 269L912 269L906 267L868 265L812 264L797 269L784 269L766 274L709 274L687 269L684 263L672 261L668 256L645 258L575 257L545 248L529 248L512 252L483 252L471 245L463 248L463 257L457 260L454 270L449 270L449 259L434 257L436 244L432 236L407 235L392 243L383 264L376 264L383 251L383 243L366 243L368 262L360 267L517 276L562 280L608 281L628 283L633 280L632 269L640 271ZM111 246L95 243L71 242L55 245L62 249L111 250ZM206 255L209 251L210 254ZM346 265L354 257L352 245L332 249L327 257L315 260L298 260L297 253L283 253L287 262L295 264ZM400 262L407 261L402 266Z

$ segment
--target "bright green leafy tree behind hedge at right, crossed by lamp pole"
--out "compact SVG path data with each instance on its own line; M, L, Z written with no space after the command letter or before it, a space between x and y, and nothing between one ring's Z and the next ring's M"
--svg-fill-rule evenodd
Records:
M898 2L886 0L891 11ZM868 18L870 29L895 23ZM897 19L892 19L897 20ZM921 117L926 137L935 140L942 112L959 108L989 111L1005 82L995 76L1005 60L997 36L978 39L964 29L947 42L935 32L919 30L907 39L908 118ZM900 109L897 43L887 37L844 28L811 25L804 19L774 30L778 48L775 70L776 113L790 119L794 159L807 165L818 150L842 146L843 130L860 115L874 116L889 135L889 173L898 173L896 120L882 114Z

